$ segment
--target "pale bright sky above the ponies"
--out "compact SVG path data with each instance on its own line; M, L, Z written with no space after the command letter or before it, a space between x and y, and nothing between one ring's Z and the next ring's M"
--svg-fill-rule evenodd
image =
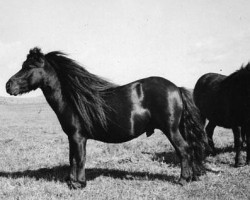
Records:
M0 96L35 46L117 84L157 75L193 88L250 61L250 1L0 1Z

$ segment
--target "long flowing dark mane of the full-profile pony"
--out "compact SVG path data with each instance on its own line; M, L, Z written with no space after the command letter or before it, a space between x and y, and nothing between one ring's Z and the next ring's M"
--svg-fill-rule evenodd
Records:
M111 108L103 97L116 85L88 72L60 51L46 54L45 60L55 69L63 95L81 116L86 130L92 134L94 125L106 128L106 111Z

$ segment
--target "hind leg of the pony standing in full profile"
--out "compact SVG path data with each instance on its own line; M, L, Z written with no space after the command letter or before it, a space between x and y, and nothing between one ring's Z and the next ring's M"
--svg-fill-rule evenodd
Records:
M164 134L168 137L171 144L174 146L177 155L181 161L181 177L179 184L185 185L187 182L192 180L192 155L191 149L188 143L183 139L178 129L164 131Z

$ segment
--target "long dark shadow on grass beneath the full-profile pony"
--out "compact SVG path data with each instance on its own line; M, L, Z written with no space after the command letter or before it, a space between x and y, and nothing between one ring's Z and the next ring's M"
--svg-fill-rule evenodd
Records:
M68 176L69 166L56 166L53 168L41 168L37 170L25 170L20 172L1 172L0 177L6 178L34 178L36 180L47 180L47 181L59 181L66 182L66 177ZM155 174L149 172L128 172L119 169L107 169L107 168L91 168L86 169L86 179L94 180L99 176L107 176L115 179L125 179L125 180L162 180L176 183L175 176Z

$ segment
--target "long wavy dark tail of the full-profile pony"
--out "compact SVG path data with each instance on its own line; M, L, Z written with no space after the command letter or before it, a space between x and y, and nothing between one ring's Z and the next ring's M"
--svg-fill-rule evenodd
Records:
M193 158L199 164L205 159L206 153L211 151L207 135L204 132L203 122L198 108L195 106L190 91L179 87L183 114L180 122L180 132L193 151Z

